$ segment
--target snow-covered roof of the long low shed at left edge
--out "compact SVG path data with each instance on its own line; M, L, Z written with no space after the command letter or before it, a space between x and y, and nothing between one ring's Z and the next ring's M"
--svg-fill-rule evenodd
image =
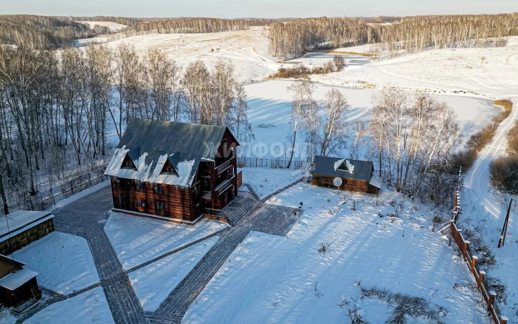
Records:
M16 210L7 216L0 217L0 242L35 227L53 218L50 212L35 212L33 210Z

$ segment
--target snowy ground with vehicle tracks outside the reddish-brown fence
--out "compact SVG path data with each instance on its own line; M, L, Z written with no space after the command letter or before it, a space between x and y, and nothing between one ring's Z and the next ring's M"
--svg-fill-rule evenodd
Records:
M518 120L518 101L513 102L511 115L504 120L493 141L488 144L478 159L464 176L464 188L461 191L461 224L468 222L470 227L477 227L495 253L497 265L488 270L487 275L498 277L506 286L507 303L500 304L503 315L509 317L509 322L518 323L518 219L516 204L513 204L509 218L506 243L498 248L500 231L505 220L511 195L501 194L490 185L491 161L504 156L507 145L507 132ZM516 197L514 197L516 200ZM462 227L462 226L461 226Z

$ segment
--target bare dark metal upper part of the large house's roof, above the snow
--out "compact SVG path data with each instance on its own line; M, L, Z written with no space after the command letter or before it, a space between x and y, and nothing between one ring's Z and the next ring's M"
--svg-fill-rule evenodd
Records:
M225 126L134 118L128 123L118 148L130 149L132 160L147 153L146 160L153 161L152 170L164 154L174 153L169 161L175 168L179 162L195 160L194 175L200 159L215 158L225 131Z

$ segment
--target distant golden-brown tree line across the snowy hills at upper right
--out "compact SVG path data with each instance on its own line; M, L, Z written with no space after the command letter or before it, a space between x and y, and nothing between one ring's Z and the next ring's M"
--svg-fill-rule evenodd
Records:
M398 51L429 47L502 46L501 37L518 35L518 13L405 17L392 24L371 24L358 18L308 18L270 24L270 51L294 58L312 50L378 44L389 57ZM488 38L496 38L488 41Z

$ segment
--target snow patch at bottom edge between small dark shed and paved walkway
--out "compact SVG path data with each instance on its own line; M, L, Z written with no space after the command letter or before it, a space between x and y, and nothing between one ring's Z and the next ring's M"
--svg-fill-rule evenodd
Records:
M75 297L53 303L24 321L26 324L110 324L114 323L103 288L90 289Z

